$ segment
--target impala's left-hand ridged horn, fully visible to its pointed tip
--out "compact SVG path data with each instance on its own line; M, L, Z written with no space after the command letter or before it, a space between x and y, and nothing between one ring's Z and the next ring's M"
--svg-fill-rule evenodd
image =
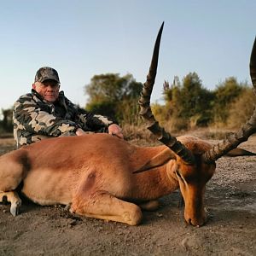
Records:
M172 151L180 156L186 164L193 165L195 163L195 159L190 150L186 148L182 143L178 142L176 137L172 137L169 132L166 132L164 128L160 127L158 121L154 119L154 115L150 108L150 96L153 90L154 79L157 72L160 39L163 27L164 22L161 25L160 31L158 32L157 38L155 40L154 52L151 60L151 65L149 67L149 73L147 75L147 81L143 84L143 91L139 100L140 114L143 116L143 119L147 121L148 130L151 131L161 143L171 148Z

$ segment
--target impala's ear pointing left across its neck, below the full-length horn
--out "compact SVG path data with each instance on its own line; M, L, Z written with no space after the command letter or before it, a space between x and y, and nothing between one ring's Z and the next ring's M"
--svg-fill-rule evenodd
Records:
M161 151L160 154L157 154L151 160L148 160L144 166L134 171L133 173L150 171L155 167L165 165L169 160L176 160L176 154L174 154L170 148L166 148Z

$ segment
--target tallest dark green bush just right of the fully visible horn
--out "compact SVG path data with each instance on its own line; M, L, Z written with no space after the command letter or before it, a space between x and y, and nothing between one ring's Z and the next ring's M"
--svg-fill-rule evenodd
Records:
M203 88L197 73L189 73L183 83L175 77L171 87L165 82L164 96L168 117L178 119L177 125L191 128L195 125L205 126L212 120L213 93Z

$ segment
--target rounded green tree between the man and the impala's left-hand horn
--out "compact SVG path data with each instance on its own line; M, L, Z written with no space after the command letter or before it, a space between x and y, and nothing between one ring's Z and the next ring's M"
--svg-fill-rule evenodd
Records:
M119 122L138 122L138 98L143 88L131 74L120 77L118 73L95 75L85 85L89 96L86 108L95 113L111 116Z

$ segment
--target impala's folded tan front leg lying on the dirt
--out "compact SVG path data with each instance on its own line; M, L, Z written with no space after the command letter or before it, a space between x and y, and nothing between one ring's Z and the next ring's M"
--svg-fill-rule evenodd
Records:
M102 218L130 225L139 224L143 218L140 207L103 191L86 198L83 195L77 195L70 211L86 217Z

